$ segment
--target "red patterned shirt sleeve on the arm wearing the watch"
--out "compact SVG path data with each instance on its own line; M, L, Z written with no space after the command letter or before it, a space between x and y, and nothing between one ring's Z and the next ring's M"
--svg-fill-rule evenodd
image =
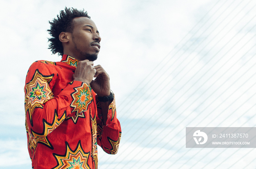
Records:
M97 99L96 99L97 101ZM97 142L98 145L108 154L116 154L121 139L121 126L116 117L115 98L110 103L108 109L108 119L106 125L102 123L101 102L97 101Z

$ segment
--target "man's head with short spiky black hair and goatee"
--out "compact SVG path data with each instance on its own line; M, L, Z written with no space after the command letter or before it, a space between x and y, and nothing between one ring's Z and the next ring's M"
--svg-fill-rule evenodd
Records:
M49 49L53 54L67 54L78 60L97 59L101 38L87 12L65 8L50 22Z

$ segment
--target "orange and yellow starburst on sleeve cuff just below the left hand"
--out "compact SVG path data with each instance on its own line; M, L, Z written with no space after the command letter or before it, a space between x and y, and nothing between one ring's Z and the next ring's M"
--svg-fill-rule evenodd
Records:
M76 112L76 115L78 115L86 111L92 102L91 89L87 83L82 83L82 86L75 87L74 90L75 92L71 94L73 101L70 107L73 107L72 112Z

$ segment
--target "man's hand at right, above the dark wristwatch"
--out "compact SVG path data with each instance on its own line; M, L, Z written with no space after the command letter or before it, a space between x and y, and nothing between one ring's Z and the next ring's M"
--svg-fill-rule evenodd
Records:
M101 67L101 65L94 66L96 73L95 79L91 81L90 85L94 92L99 97L110 95L110 78L107 72Z

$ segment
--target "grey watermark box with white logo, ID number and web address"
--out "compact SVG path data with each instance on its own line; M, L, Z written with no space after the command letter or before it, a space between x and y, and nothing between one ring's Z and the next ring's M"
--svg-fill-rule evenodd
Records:
M186 127L186 148L256 148L256 127Z

